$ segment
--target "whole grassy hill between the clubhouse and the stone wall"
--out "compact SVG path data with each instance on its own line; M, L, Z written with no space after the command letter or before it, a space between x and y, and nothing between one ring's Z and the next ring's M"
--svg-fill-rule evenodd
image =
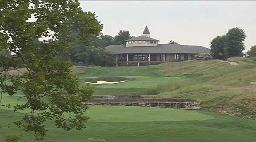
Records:
M230 58L238 66L220 60L183 61L144 67L76 67L81 85L86 78L125 77L121 84L93 85L94 95L157 95L201 101L204 110L256 117L256 61Z

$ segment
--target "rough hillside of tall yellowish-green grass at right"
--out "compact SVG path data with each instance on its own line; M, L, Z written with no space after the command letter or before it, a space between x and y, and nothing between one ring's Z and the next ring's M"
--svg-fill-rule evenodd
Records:
M204 110L256 118L256 61L230 58L227 62L184 61L164 63L155 70L159 75L186 76L188 80L171 81L151 89L159 98L189 98L202 101Z

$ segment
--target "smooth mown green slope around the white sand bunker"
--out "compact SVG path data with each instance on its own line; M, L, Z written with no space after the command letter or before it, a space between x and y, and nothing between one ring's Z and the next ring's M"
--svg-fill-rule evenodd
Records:
M185 77L165 77L158 75L155 66L142 67L79 67L82 73L77 75L82 86L85 82L98 80L120 81L128 80L119 84L92 85L96 88L94 95L148 95L150 88L163 85L171 80L185 79ZM122 79L123 78L123 79ZM151 94L157 95L157 94Z

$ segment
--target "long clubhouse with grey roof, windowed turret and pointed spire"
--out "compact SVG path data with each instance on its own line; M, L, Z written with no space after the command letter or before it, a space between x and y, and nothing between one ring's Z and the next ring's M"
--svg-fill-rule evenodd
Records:
M120 64L163 63L172 61L192 60L200 53L210 53L210 49L203 46L180 44L158 44L159 40L150 38L146 26L143 35L131 38L122 45L109 45L105 48L115 55L116 67Z

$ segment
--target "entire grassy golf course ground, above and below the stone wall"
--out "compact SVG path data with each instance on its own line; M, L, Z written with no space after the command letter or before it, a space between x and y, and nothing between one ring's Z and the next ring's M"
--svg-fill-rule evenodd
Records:
M248 58L231 58L239 66L227 62L184 61L145 67L72 68L85 81L128 79L120 84L93 85L95 95L149 95L159 98L189 98L202 102L202 110L154 107L90 106L90 120L85 130L65 131L47 121L49 132L45 142L87 142L90 137L106 142L254 142L256 120L218 114L255 117L256 62ZM15 73L15 72L13 72ZM95 77L98 77L97 79ZM23 96L3 95L3 104L17 104ZM24 103L26 99L20 99ZM207 110L207 111L205 111ZM212 112L218 113L212 113ZM7 134L21 130L8 123L20 120L27 110L13 112L1 107L0 142ZM22 142L35 142L32 133L24 133Z

